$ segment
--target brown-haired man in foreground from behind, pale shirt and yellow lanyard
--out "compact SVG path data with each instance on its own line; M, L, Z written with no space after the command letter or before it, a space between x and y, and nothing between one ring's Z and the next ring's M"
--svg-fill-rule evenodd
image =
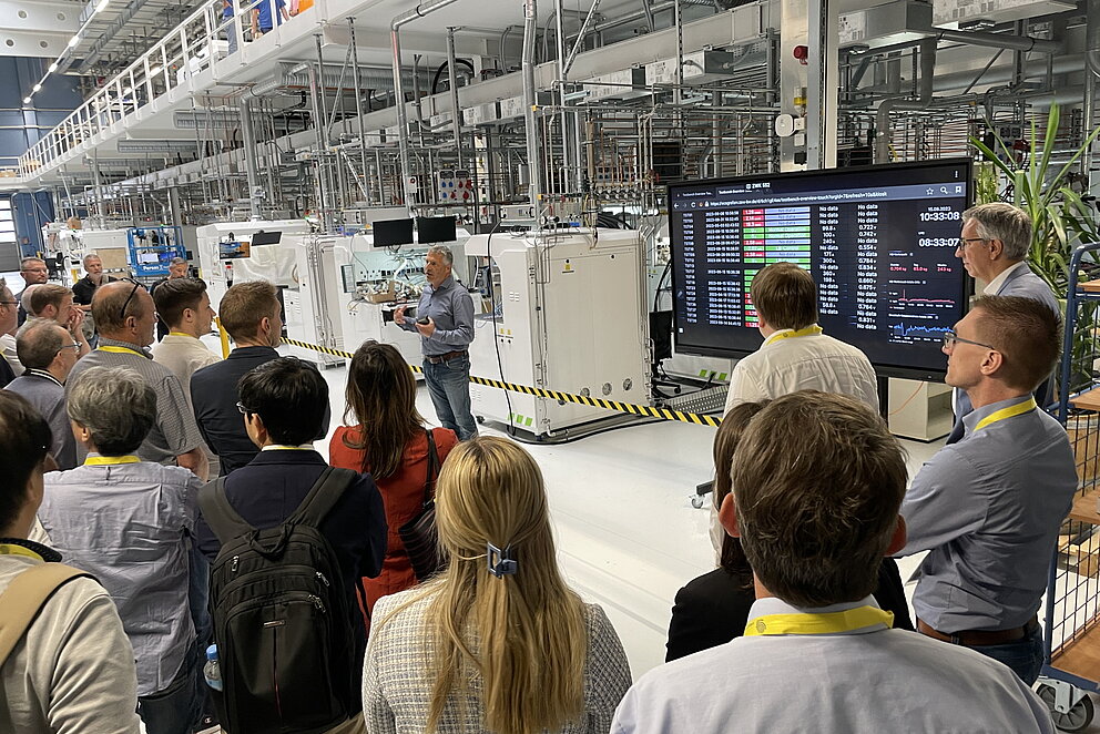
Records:
M870 595L879 559L905 544L906 475L885 421L851 397L805 390L757 414L721 510L753 569L745 635L643 675L612 734L1053 734L1011 671L890 629Z

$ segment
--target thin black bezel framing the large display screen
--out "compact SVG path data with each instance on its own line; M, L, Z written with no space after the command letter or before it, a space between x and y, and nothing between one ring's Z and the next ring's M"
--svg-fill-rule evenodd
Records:
M966 204L965 207L970 207L974 205L974 161L969 157L949 157L949 159L935 159L929 161L907 161L904 163L888 163L888 164L876 164L876 165L860 165L851 166L844 169L817 169L814 171L787 171L780 173L761 173L761 174L750 174L743 176L722 176L717 179L697 179L693 181L680 180L671 182L665 185L665 204L669 207L669 245L670 245L670 256L676 257L678 243L675 242L674 226L672 221L672 194L676 190L689 188L700 185L721 185L727 183L751 183L758 181L772 181L778 176L784 179L814 179L823 175L858 175L866 173L880 173L883 171L904 171L906 169L928 169L934 166L964 166L966 169L965 181L967 182L966 190ZM960 223L961 225L961 223ZM671 273L672 278L672 312L673 312L673 338L674 350L676 354L682 355L693 355L700 357L717 357L722 359L743 359L748 355L755 353L760 345L755 349L737 349L737 348L709 348L705 346L695 345L682 345L680 339L680 326L681 326L681 314L680 308L676 304L676 293L680 292L681 283L679 283L679 271L675 264L673 264ZM968 276L966 271L962 271L962 314L965 315L970 308L970 298L974 294L974 279ZM746 327L742 327L746 328ZM760 344L764 343L764 337L760 337ZM868 357L869 359L869 357ZM880 377L900 377L904 379L914 379L925 383L943 383L944 377L947 375L947 358L944 358L944 366L940 369L927 369L923 367L910 367L904 365L884 364L872 360L872 367L875 369L875 374Z

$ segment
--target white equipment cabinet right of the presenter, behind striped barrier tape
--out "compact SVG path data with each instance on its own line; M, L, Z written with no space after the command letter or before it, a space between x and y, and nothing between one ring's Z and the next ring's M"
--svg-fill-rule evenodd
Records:
M649 402L644 254L636 232L475 235L466 254L491 258L492 273L490 313L475 319L470 345L475 376ZM522 393L506 399L503 390L476 384L470 397L475 416L536 436L617 416Z

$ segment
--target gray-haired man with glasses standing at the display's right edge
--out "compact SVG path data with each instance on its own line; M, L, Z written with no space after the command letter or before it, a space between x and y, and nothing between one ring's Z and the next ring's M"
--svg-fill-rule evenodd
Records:
M986 284L982 295L1021 296L1046 304L1061 315L1061 306L1047 282L1036 275L1027 264L1031 245L1031 218L1011 204L994 202L979 204L962 212L962 234L955 256L976 281ZM1039 405L1050 395L1049 379L1036 389ZM966 394L955 390L955 427L948 444L962 438L962 416L971 407Z

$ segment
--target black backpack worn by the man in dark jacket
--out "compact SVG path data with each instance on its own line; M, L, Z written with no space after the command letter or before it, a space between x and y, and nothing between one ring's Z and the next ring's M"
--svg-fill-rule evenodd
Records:
M210 610L227 732L313 734L360 710L348 598L317 530L358 478L326 467L291 517L266 530L233 509L224 478L200 492L203 518L222 542Z

